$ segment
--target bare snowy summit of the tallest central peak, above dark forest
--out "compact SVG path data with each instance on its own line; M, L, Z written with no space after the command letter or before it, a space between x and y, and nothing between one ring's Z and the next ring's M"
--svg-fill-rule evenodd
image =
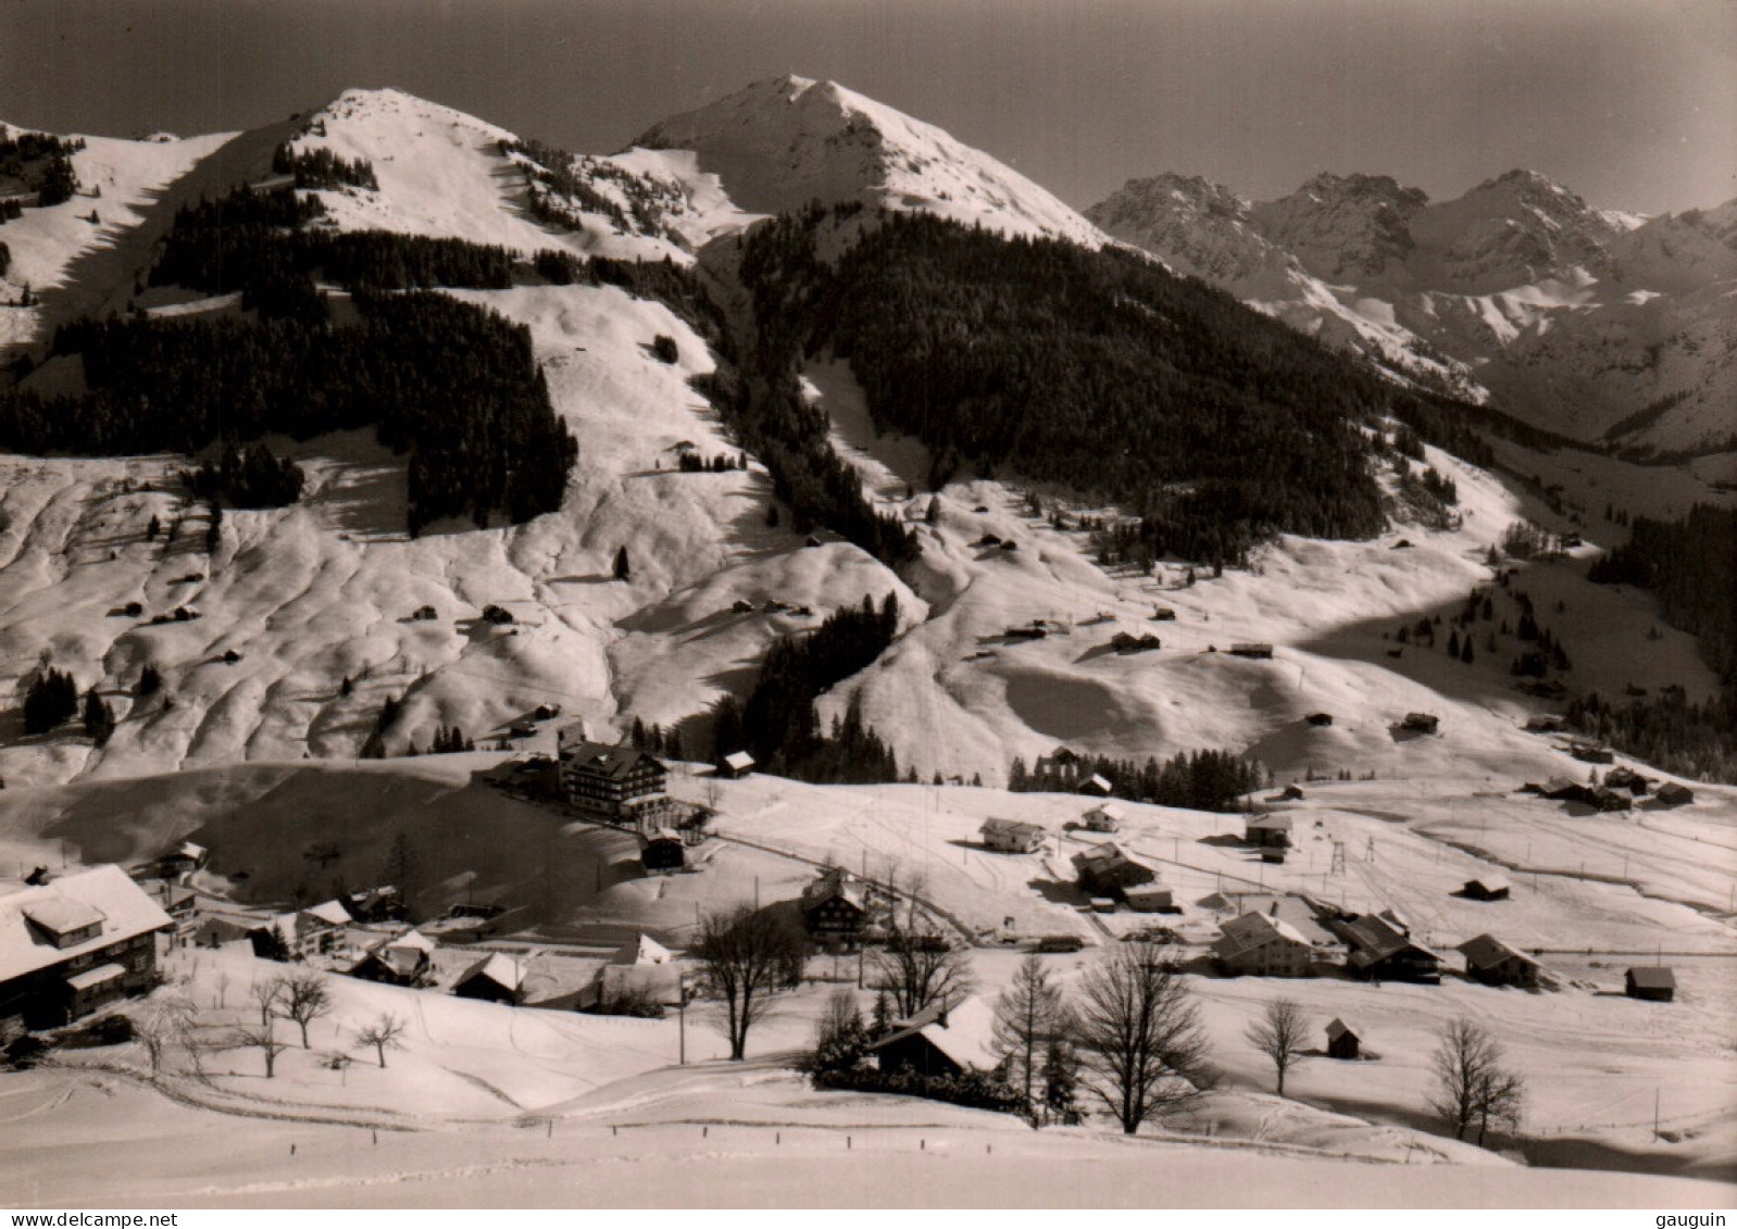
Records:
M1046 234L1087 246L1098 229L988 154L835 82L780 76L653 125L636 146L691 149L756 212L862 201Z

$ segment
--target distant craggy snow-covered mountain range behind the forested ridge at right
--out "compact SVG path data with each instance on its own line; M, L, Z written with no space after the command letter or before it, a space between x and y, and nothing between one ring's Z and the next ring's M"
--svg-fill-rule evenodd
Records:
M1570 437L1728 446L1737 203L1641 219L1527 170L1430 201L1322 174L1275 201L1164 175L1087 210L1251 306Z

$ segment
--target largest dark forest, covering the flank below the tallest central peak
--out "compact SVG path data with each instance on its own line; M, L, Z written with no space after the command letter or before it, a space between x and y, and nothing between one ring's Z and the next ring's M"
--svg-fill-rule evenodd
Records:
M1237 562L1275 531L1377 533L1360 427L1381 417L1476 458L1442 406L1138 255L884 214L825 264L827 217L749 238L763 349L848 359L875 424L935 451L936 484L1007 465L1126 503L1126 555Z

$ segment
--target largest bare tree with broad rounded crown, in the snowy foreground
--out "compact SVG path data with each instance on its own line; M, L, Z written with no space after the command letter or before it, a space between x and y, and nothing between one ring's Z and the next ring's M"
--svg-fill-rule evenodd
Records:
M1216 1081L1188 984L1159 946L1122 944L1087 969L1073 1017L1086 1085L1127 1135Z

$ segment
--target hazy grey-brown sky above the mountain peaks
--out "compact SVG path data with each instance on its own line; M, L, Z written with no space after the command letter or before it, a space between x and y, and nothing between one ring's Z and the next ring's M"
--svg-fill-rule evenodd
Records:
M750 80L837 80L1072 205L1179 170L1433 198L1515 167L1641 212L1737 196L1734 0L0 0L0 118L241 128L396 85L606 153Z

